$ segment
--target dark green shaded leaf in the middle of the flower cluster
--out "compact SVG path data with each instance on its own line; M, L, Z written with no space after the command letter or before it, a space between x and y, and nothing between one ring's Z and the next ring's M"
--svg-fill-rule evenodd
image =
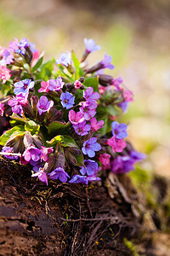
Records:
M68 133L69 127L71 123L61 123L59 121L54 121L48 125L48 134L49 135L58 135L58 134L66 134Z

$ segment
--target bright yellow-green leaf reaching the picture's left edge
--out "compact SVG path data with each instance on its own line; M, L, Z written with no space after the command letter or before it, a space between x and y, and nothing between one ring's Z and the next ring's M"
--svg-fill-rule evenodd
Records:
M8 139L11 137L11 135L17 134L20 136L23 134L23 132L25 132L23 125L14 126L10 130L3 133L3 135L0 137L0 144L4 146L7 143Z

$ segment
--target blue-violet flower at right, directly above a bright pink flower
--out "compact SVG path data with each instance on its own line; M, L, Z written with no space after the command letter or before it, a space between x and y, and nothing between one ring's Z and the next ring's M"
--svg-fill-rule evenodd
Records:
M112 134L116 139L123 139L127 137L127 125L119 124L118 122L112 122L111 124Z

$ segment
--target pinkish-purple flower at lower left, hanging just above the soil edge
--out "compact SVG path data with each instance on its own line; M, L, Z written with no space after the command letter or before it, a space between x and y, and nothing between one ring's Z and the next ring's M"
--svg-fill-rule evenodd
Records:
M42 151L41 149L31 145L26 148L25 152L23 153L23 157L27 162L29 162L30 160L37 162L42 158Z

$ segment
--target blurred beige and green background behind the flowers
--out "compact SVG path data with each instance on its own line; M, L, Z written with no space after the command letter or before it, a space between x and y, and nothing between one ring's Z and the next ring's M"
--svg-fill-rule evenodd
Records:
M135 149L148 154L142 168L170 177L170 2L166 0L1 0L0 45L28 38L46 59L94 38L113 58L134 102L122 120Z

